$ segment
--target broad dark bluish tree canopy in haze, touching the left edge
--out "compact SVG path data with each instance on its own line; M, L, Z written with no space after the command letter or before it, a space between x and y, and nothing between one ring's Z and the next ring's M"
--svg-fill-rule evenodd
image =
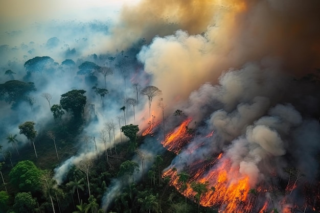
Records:
M9 104L28 101L28 94L36 90L33 82L7 81L4 84L0 84L0 100L4 100Z

